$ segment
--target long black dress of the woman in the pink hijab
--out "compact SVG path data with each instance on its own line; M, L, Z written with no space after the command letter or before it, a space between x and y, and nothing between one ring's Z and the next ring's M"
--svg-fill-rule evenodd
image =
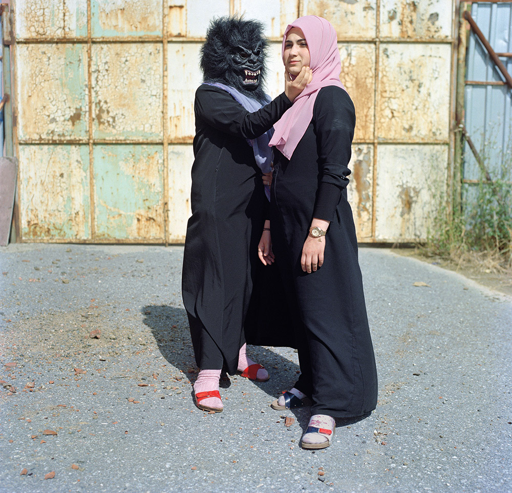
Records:
M276 151L271 186L275 264L302 331L302 373L295 387L312 396L312 415L335 418L361 416L377 402L375 357L346 190L354 126L348 94L334 86L319 90L312 121L291 159ZM331 223L324 264L307 274L301 255L313 217Z

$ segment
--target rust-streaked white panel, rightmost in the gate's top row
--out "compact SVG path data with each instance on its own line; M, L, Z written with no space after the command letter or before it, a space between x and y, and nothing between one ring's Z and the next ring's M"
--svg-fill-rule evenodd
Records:
M453 5L446 0L380 0L380 36L449 39Z

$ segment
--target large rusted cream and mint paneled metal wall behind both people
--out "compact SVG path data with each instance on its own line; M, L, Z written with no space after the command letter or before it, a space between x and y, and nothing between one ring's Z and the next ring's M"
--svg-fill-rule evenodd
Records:
M194 92L209 19L270 38L300 15L338 33L357 128L349 195L360 241L425 237L449 178L455 0L16 0L23 241L182 242Z

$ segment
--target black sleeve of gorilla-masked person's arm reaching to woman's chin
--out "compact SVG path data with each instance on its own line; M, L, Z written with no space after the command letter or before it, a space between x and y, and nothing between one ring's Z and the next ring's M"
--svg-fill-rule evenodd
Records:
M202 85L196 91L194 111L196 122L237 137L253 139L269 130L283 113L291 107L285 93L253 113L247 111L226 91Z

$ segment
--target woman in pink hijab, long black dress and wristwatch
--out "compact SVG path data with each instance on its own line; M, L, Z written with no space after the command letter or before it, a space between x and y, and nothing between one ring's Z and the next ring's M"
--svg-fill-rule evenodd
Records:
M293 77L313 81L274 125L270 232L275 263L298 331L301 375L274 409L311 405L301 444L331 444L335 418L367 416L376 406L377 372L347 201L355 110L339 81L337 35L324 18L300 17L283 36ZM264 248L260 257L265 258Z

